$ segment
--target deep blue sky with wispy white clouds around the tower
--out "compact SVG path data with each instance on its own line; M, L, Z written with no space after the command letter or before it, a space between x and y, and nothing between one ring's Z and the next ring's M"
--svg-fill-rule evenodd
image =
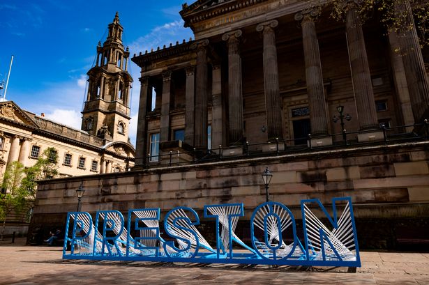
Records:
M179 15L184 1L0 0L0 81L15 56L6 99L80 129L86 72L116 11L132 57L193 36ZM134 79L130 137L135 144L140 68L131 63L128 72Z

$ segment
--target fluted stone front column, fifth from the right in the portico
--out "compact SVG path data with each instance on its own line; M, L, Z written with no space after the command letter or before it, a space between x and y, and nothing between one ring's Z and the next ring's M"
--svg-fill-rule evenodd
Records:
M228 118L229 144L240 144L243 139L243 91L241 86L241 56L239 38L241 30L224 33L228 46Z

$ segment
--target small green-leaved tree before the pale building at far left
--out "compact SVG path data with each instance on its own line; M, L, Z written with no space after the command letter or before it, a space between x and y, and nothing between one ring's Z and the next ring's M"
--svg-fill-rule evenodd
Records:
M0 220L3 226L0 240L6 228L6 219L12 212L22 213L32 208L36 198L37 180L50 179L58 175L58 153L47 148L32 167L25 168L20 162L12 162L6 168L1 183Z

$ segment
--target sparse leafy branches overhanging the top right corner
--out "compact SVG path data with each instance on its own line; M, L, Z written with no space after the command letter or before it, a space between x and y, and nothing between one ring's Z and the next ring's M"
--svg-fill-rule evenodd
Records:
M345 21L350 0L328 1L332 7L331 17ZM406 31L416 26L421 47L429 46L429 1L428 0L359 0L356 1L361 21L379 16L379 21L388 31ZM409 15L409 14L412 15ZM414 18L414 21L410 19Z

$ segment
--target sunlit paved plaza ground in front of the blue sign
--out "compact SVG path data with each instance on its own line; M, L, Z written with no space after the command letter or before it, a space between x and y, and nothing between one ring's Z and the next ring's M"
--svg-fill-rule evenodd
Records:
M362 267L63 261L61 247L0 242L0 284L429 284L429 254L361 252Z

